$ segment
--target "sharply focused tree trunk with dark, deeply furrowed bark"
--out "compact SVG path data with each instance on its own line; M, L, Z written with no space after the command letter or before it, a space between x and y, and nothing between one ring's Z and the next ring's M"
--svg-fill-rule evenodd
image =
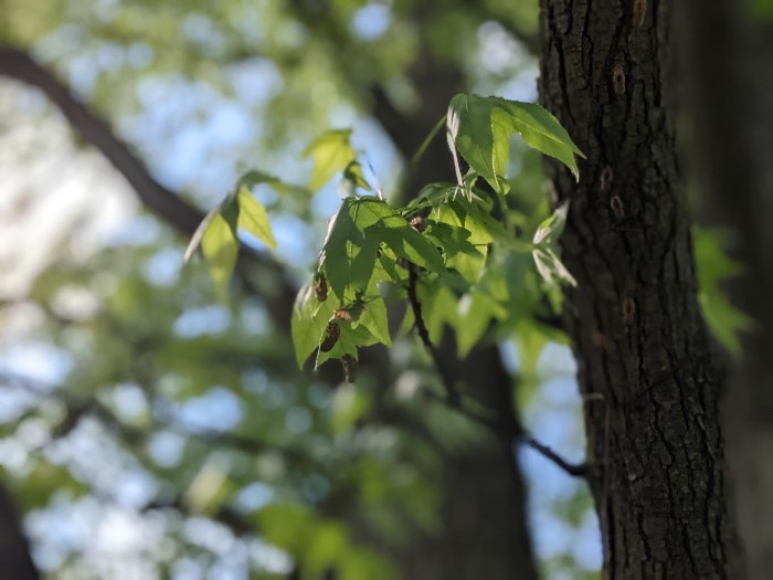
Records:
M589 477L610 578L737 577L721 372L696 274L657 0L541 0L540 98L586 155L563 256L585 397Z

